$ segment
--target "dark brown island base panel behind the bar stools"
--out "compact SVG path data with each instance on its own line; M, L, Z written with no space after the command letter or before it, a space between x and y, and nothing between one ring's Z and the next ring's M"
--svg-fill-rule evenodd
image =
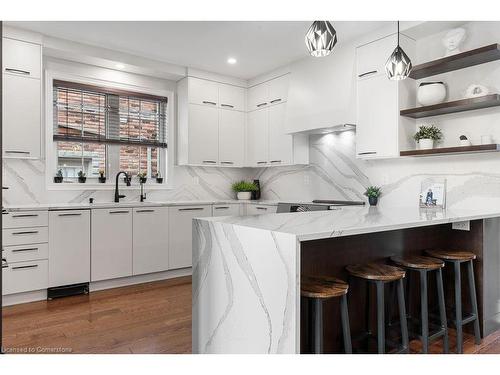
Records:
M470 231L458 231L451 224L442 224L421 228L410 228L355 236L336 237L322 240L306 241L301 244L301 273L307 275L331 275L348 280L345 266L348 264L383 261L392 255L422 254L426 249L468 250L477 255L474 263L478 308L481 333L492 333L500 327L500 220L487 219L471 221ZM408 274L407 274L408 275ZM408 276L407 276L408 277ZM413 290L410 310L413 316L419 317L420 297L418 274L410 276ZM453 306L453 269L446 266L443 272L446 306ZM353 338L366 329L366 285L364 281L349 280L349 314ZM374 286L371 293L370 306L372 318L370 327L376 331L376 304ZM462 269L462 301L464 313L470 311L467 273ZM429 276L428 296L430 307L436 306L436 285L434 275ZM386 287L386 302L390 298ZM389 303L386 303L389 305ZM393 318L398 321L396 299ZM386 317L389 312L386 310ZM301 299L301 352L307 353L307 306ZM324 303L324 352L342 352L342 336L340 331L340 314L338 299ZM472 332L472 324L464 327ZM396 326L394 331L398 332ZM373 344L376 344L373 343ZM356 345L354 345L354 348ZM375 346L372 347L375 349ZM366 347L362 348L366 349ZM453 349L453 348L452 348Z

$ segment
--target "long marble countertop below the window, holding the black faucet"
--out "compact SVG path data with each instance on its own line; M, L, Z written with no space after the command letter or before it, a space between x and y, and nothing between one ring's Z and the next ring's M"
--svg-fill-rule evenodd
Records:
M44 211L44 210L76 210L76 209L90 209L90 208L113 208L113 207L161 207L161 206L191 206L203 204L264 204L264 205L277 205L278 201L271 200L196 200L196 201L146 201L146 202L95 202L95 203L43 203L43 204L26 204L26 205L6 205L4 208L8 211Z

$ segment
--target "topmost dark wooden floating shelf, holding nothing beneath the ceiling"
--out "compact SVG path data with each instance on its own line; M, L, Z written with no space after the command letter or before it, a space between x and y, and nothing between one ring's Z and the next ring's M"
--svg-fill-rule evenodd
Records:
M414 66L410 78L421 79L495 60L500 60L500 45L496 43Z

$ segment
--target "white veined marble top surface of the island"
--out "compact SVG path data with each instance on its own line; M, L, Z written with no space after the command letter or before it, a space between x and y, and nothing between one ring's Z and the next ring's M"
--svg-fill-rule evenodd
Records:
M500 217L499 207L426 210L341 207L332 211L200 218L213 223L292 234L299 241Z

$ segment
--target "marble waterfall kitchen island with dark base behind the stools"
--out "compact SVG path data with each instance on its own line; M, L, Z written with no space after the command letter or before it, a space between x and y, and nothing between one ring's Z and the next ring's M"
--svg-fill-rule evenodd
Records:
M347 264L384 261L430 248L477 255L480 326L483 335L489 334L500 327L499 218L500 207L443 211L343 207L195 219L193 353L305 352L302 274L347 279ZM453 229L456 222L468 222L468 230ZM449 281L445 272L445 289L452 287ZM361 329L366 308L358 289L351 285L353 334ZM325 309L325 352L335 352L340 319L335 306Z

